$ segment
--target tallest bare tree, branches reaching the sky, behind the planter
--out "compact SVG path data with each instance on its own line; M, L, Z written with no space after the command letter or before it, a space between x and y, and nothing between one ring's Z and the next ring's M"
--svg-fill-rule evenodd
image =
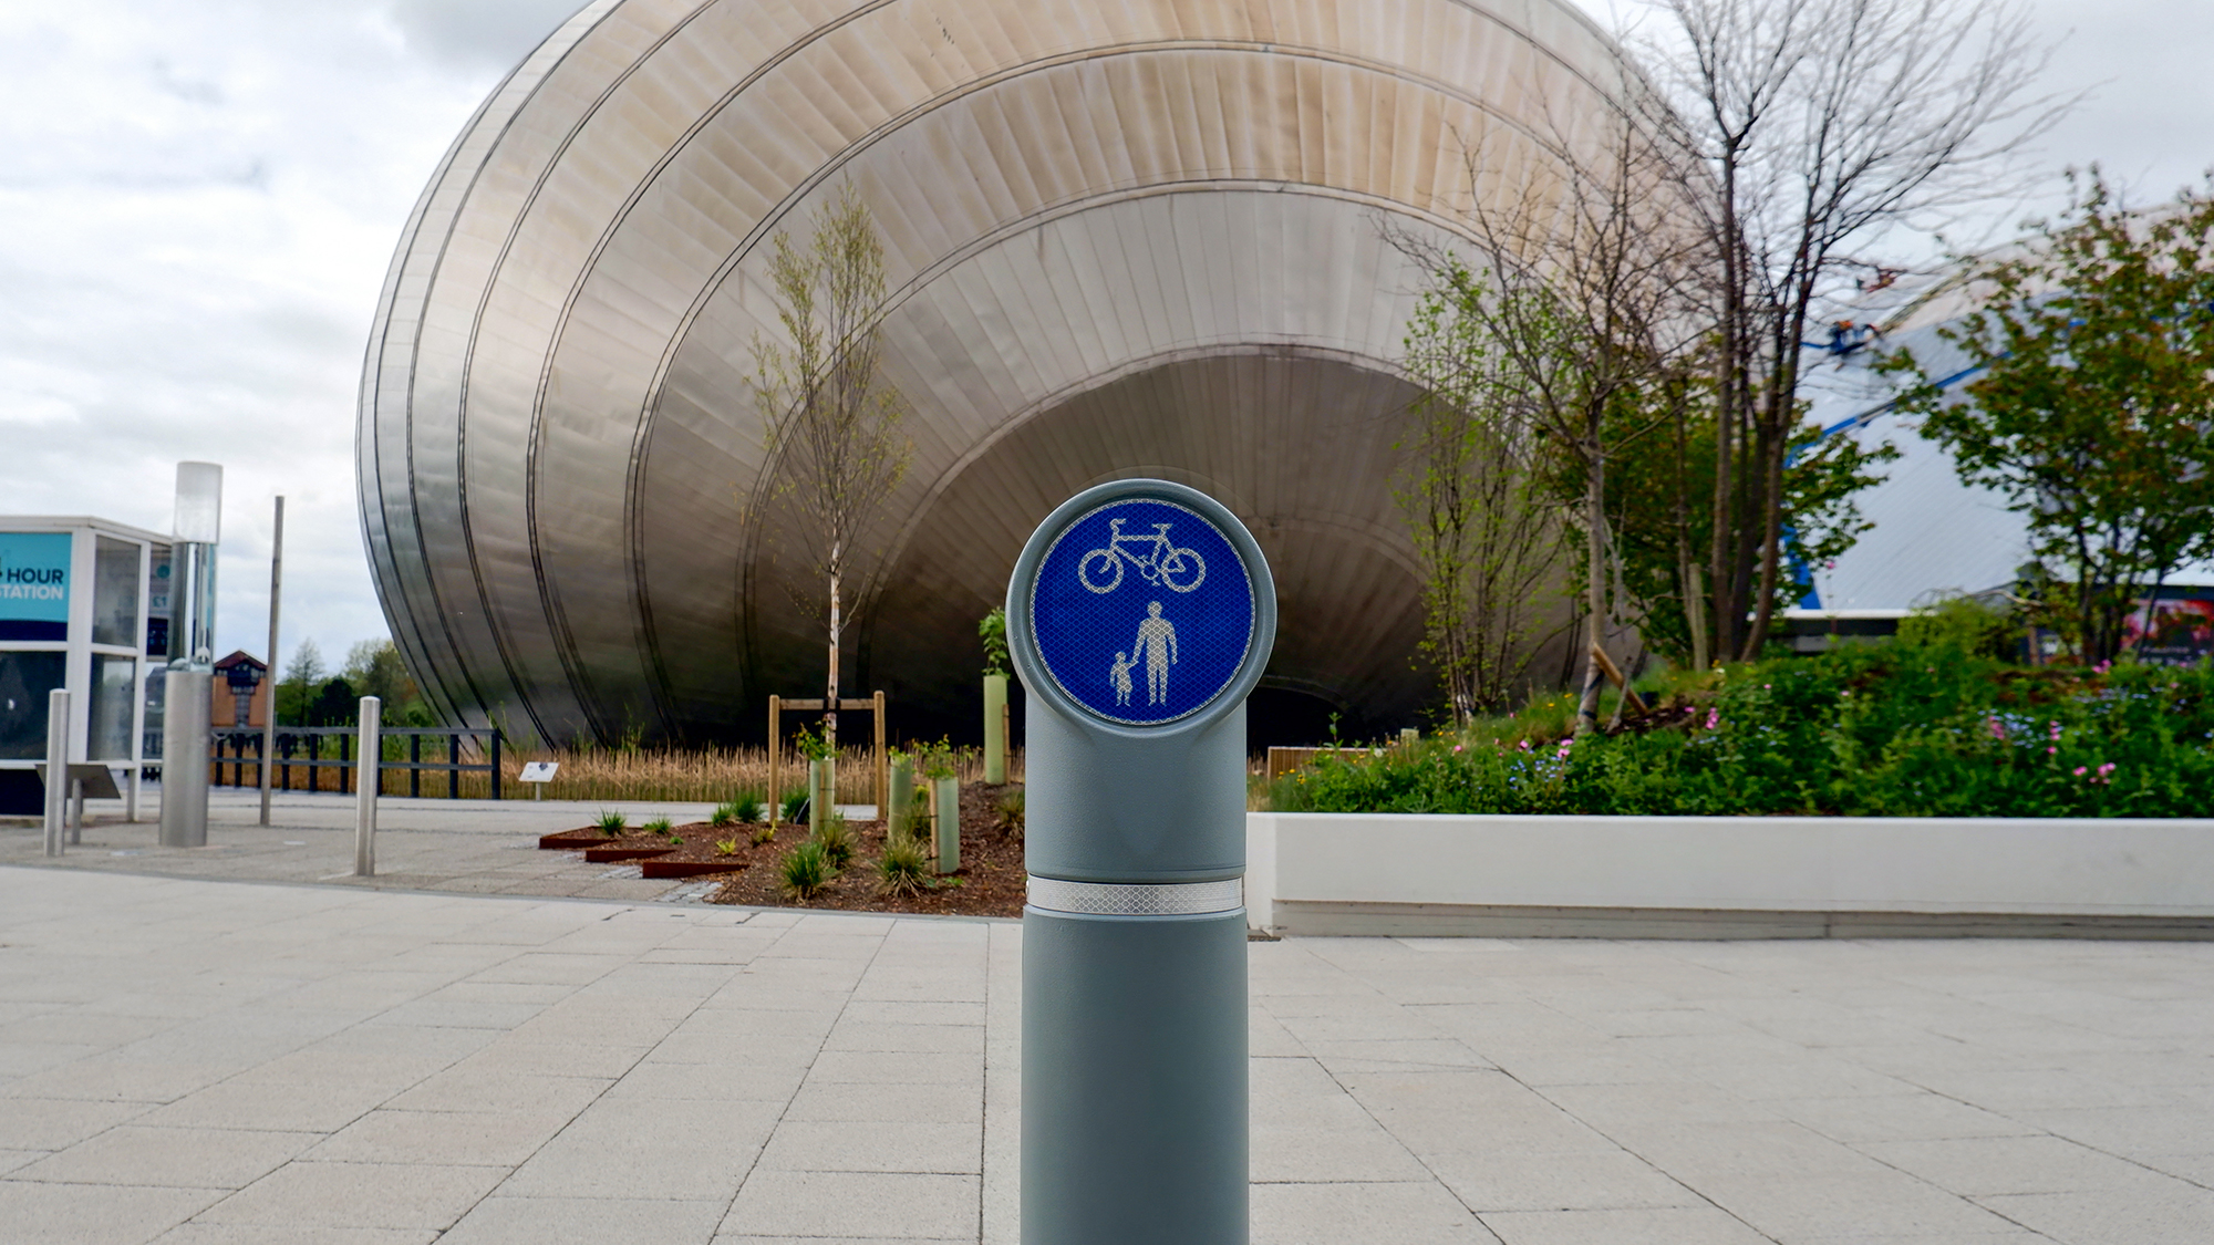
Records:
M2010 193L2072 100L2032 95L2048 53L2019 0L1654 0L1652 47L1707 177L1720 341L1711 638L1760 654L1782 563L1784 456L1809 323L1855 250ZM1751 620L1747 622L1747 616Z

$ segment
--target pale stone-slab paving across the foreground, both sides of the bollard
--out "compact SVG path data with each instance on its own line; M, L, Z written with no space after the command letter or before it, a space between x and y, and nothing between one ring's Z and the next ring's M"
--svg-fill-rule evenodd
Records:
M2214 1223L2210 944L1249 966L1255 1245ZM0 864L0 1238L1016 1245L1018 1125L1018 922Z

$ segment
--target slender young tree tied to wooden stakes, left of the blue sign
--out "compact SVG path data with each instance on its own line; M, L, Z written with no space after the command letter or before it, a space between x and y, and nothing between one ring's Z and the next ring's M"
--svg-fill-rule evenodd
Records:
M906 401L879 366L886 286L877 226L850 184L815 210L813 226L804 246L779 233L768 261L786 343L753 343L773 481L755 496L755 512L788 501L808 567L828 583L824 742L835 749L839 638L859 614L844 591L866 567L861 541L908 474L910 445L899 434Z

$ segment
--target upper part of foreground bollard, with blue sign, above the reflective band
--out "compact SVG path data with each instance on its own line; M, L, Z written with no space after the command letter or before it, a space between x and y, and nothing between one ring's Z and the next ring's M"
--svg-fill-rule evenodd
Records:
M1238 877L1244 700L1273 645L1269 563L1215 498L1116 481L1056 507L1007 585L1007 649L1030 693L1030 873Z

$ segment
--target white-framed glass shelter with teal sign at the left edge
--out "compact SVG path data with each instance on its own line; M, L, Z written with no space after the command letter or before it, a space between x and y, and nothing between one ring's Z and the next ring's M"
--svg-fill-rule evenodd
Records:
M69 760L126 769L137 820L162 751L168 556L168 536L106 518L0 514L0 817L42 811L46 693L66 687Z

